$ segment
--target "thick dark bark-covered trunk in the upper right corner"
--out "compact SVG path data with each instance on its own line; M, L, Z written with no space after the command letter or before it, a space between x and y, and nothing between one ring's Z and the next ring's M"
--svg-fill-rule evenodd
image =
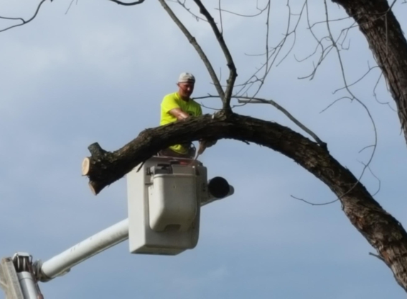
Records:
M387 0L332 0L354 18L396 102L407 142L407 41Z

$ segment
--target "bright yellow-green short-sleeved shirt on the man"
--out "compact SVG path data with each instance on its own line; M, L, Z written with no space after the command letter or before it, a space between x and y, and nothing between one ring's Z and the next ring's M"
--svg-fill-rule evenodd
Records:
M174 115L170 114L169 111L173 108L180 108L185 113L188 113L191 116L202 115L202 108L200 104L190 98L188 101L184 101L178 95L178 92L173 94L168 94L164 96L163 101L161 102L161 120L160 125L167 125L168 123L173 123L177 120ZM180 154L185 154L188 152L188 149L183 145L173 145L170 147L174 152Z

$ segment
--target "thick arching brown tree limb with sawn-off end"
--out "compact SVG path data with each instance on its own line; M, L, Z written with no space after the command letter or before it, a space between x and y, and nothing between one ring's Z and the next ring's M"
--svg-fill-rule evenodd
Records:
M407 290L407 233L371 197L366 188L324 148L278 123L232 114L202 115L179 123L144 130L120 150L90 146L89 184L97 194L159 150L179 142L211 137L255 142L293 159L323 181L340 198L342 210Z

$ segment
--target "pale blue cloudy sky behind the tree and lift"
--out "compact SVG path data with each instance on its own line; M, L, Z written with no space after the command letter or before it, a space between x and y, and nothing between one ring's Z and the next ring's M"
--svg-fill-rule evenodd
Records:
M290 2L292 29L302 1ZM407 5L399 2L394 11L406 30L401 16ZM264 1L225 0L222 9L254 14L256 3L264 6ZM224 83L226 62L208 24L196 21L179 4L168 4ZM193 1L185 4L197 13ZM205 4L220 23L218 1ZM3 0L0 16L30 18L37 5L38 0ZM328 11L332 19L345 16L330 2ZM308 13L311 23L324 21L323 1L309 4ZM283 38L287 20L286 2L273 1L269 50ZM318 49L315 56L299 61L317 46L306 18L301 20L293 49L288 52L291 34L257 96L290 111L357 177L377 138L371 171L364 171L361 181L406 225L406 141L383 80L374 97L379 70L372 69L350 88L369 109L373 127L358 101L336 101L348 94L334 93L344 86L335 50L313 80L298 79L313 72L320 54ZM0 21L0 28L11 22ZM332 22L332 35L349 25L352 21ZM237 65L237 84L242 84L265 62L260 54L266 50L266 15L246 18L224 12L222 27ZM327 35L323 23L313 28L320 38ZM138 6L46 1L31 23L0 33L0 44L0 256L28 252L46 261L127 218L125 179L97 196L90 192L80 172L87 147L99 142L105 150L117 150L141 130L156 127L161 100L176 91L180 72L197 78L193 96L215 94L215 89L194 48L158 1ZM344 45L349 49L340 55L345 78L352 83L374 66L374 58L357 28L349 30ZM249 95L255 91L250 89ZM214 98L197 101L204 113L221 106ZM234 111L306 135L273 106L248 104ZM294 198L325 203L335 195L291 159L236 140L219 140L200 159L209 176L224 176L235 193L202 207L195 249L177 256L130 254L125 241L65 276L40 283L45 298L405 297L386 265L369 255L374 249L351 225L340 203L315 206Z

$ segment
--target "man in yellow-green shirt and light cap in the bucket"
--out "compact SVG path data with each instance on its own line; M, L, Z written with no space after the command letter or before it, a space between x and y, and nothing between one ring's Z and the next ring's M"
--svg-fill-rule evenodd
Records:
M191 116L202 115L200 104L190 98L195 87L195 77L188 72L181 73L177 85L178 91L166 95L161 102L160 125L167 125L177 120L185 120ZM200 142L199 153L205 150L205 148L202 149L204 144L205 147L209 147L214 145L215 142ZM162 150L159 154L161 156L193 158L195 156L195 147L190 142L182 145L173 145Z

